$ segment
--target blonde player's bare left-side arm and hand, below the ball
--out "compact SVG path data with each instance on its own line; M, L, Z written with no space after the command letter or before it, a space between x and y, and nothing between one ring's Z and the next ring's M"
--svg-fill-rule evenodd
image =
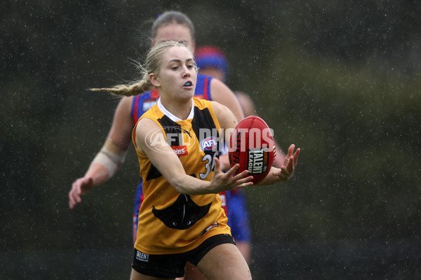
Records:
M241 172L236 176L232 176L239 165L236 165L224 173L220 169L220 161L215 158L215 171L211 181L203 181L189 176L185 173L178 156L173 153L173 149L166 143L154 142L152 147L152 139L148 135L154 131L154 137L163 137L163 132L159 130L159 126L148 118L143 118L136 127L136 148L138 151L146 153L152 164L161 172L168 183L178 191L178 193L187 195L203 195L207 193L220 193L224 190L233 190L235 188L243 188L249 186L250 179L245 178L248 172ZM148 137L147 137L148 135Z

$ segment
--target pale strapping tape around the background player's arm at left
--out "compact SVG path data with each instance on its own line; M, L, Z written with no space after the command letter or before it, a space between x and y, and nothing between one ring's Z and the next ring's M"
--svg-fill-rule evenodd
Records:
M111 178L120 165L126 160L127 150L123 151L119 146L114 144L111 139L107 138L100 152L92 162L104 165L108 170L108 178Z

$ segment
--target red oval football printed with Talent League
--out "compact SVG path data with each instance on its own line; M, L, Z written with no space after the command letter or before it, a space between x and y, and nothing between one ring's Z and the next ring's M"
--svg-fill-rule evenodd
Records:
M230 139L229 163L239 163L236 174L248 170L253 183L265 179L274 163L275 142L272 130L258 116L247 117L236 126Z

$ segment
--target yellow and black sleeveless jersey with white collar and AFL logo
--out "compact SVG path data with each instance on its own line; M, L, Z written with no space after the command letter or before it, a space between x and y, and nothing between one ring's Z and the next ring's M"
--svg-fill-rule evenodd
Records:
M159 100L142 118L154 120L165 136L153 139L156 134L150 132L147 136L152 137L150 148L157 141L166 141L178 155L186 174L206 181L212 179L214 159L219 154L220 125L210 102L194 98L189 117L180 120L166 111ZM231 234L220 195L182 195L137 147L136 153L144 194L136 249L149 254L185 253L208 237Z

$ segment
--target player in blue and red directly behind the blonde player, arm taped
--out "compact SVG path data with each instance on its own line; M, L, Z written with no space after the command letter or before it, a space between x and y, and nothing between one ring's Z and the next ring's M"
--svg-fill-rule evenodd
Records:
M195 48L194 26L186 15L168 11L163 13L152 25L152 46L163 41L180 40L184 41L191 50ZM196 97L213 100L224 104L229 108L238 120L243 119L243 111L234 93L220 80L210 76L198 76L196 85ZM105 183L119 169L126 157L126 152L131 144L131 133L138 118L142 116L151 106L156 103L159 94L156 90L145 92L136 97L123 97L114 113L112 127L105 141L104 146L88 168L86 174L74 181L69 191L69 207L73 209L81 202L81 195L84 195L95 186ZM222 159L222 168L227 169L229 162L227 158ZM222 200L226 199L222 193ZM142 183L139 184L135 194L135 205L133 209L133 239L136 239L138 232L138 214L140 202L142 201ZM226 204L224 205L226 208ZM196 273L193 267L188 273ZM196 279L199 276L194 276ZM193 278L191 278L193 279Z

